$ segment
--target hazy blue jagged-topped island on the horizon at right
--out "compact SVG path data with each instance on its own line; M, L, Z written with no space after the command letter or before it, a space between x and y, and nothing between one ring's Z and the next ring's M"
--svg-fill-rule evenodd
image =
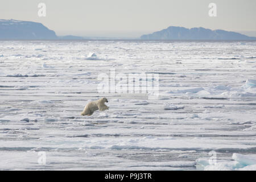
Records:
M164 30L142 35L143 40L256 40L237 32L170 26Z

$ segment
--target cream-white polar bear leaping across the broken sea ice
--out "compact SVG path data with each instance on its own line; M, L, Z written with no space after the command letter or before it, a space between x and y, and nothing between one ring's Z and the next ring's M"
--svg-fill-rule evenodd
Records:
M109 102L105 97L100 98L97 101L91 101L84 107L81 115L92 115L96 110L106 110L109 109L108 106L105 105L105 102Z

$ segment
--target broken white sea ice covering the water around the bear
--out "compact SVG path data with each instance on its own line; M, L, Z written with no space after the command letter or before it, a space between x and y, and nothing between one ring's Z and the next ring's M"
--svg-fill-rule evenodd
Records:
M0 169L255 170L255 52L256 42L2 41ZM159 96L98 93L111 68L158 73ZM109 110L80 115L103 96Z

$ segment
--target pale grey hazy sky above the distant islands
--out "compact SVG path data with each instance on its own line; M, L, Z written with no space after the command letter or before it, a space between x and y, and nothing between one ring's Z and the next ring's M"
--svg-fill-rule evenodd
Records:
M40 2L46 4L46 17L38 16ZM216 17L208 15L212 2ZM57 35L137 38L183 26L256 36L256 0L1 0L0 19L40 22Z

